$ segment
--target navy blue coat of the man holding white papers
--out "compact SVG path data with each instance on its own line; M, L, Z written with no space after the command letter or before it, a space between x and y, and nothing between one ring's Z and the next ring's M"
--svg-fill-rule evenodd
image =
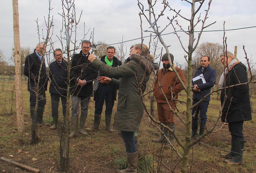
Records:
M199 74L202 74L202 66L198 67L198 69L195 72L194 77L198 76ZM201 90L201 92L195 92L193 91L193 99L201 100L204 96L209 94L211 92L211 87L214 86L216 81L216 70L210 67L210 64L204 69L203 75L205 77L205 84L198 84L198 88ZM194 83L192 81L192 85L194 86ZM204 98L204 101L210 101L210 95Z

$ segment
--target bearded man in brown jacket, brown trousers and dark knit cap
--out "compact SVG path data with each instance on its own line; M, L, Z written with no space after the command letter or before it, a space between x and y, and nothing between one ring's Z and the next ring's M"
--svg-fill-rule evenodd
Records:
M170 57L173 64L174 57L171 53L170 53ZM159 70L157 74L157 81L154 84L154 96L157 102L158 119L161 123L163 123L164 125L170 127L175 131L175 123L174 123L173 116L175 114L174 110L176 107L176 101L174 101L173 99L178 99L178 93L184 88L182 87L179 81L179 78L176 76L176 74L170 67L167 53L163 54L161 60L163 62L163 68ZM178 72L182 82L186 85L183 71L179 67L176 67L175 64L173 64L173 67ZM159 87L159 84L160 84L160 87ZM164 95L166 95L172 110L170 110L169 105L161 89L163 90ZM166 128L163 128L163 132L166 135L168 134L168 130ZM161 136L158 139L153 139L153 142L155 143L166 142L164 138L164 134L161 134ZM169 138L171 143L174 144L175 142L174 136L170 134L170 135L167 135L167 137Z

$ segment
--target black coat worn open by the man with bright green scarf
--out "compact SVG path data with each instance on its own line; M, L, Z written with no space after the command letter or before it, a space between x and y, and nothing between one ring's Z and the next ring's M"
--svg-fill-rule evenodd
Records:
M106 55L104 55L103 57L100 58L100 61L105 62L105 57ZM117 67L117 66L120 66L122 65L122 62L119 61L116 57L113 57L113 64L112 64L112 67ZM107 76L107 77L113 77L113 76L109 76L109 75L104 75L103 73L100 73L100 76ZM117 77L114 77L116 79L118 79ZM96 92L94 92L94 100L95 101L98 101L99 100L99 91L101 90L102 86L104 86L105 84L101 84L99 83L99 86L98 86L98 89L96 90ZM114 86L111 86L111 87L114 87ZM115 100L117 100L117 88L114 88L113 89L113 97Z

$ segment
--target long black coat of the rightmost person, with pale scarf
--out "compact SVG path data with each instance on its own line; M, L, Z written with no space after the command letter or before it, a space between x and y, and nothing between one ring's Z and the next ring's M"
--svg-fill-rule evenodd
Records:
M226 86L248 82L246 66L241 62L234 65L225 78ZM248 85L226 88L228 96L222 110L222 122L237 122L252 120ZM221 105L224 102L224 89L221 90Z

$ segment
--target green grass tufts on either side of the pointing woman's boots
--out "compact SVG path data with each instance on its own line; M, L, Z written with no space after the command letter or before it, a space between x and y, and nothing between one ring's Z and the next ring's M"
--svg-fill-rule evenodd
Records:
M127 159L124 156L121 156L114 160L114 164L117 168L123 170L128 167ZM140 159L138 162L138 173L148 173L153 172L153 158L150 156L145 156L145 159Z

